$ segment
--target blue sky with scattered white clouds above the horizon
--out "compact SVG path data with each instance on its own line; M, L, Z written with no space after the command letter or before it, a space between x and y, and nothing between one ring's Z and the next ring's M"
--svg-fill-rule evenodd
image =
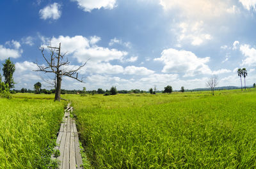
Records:
M256 82L256 0L5 0L0 16L0 66L15 63L15 89L51 89L34 62L59 43L70 68L87 61L85 83L63 77L62 89L195 89L212 75L239 86L237 68Z

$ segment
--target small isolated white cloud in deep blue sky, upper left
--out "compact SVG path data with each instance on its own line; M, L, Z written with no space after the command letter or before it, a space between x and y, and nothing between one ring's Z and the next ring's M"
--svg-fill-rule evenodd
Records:
M39 11L40 18L46 20L47 18L52 18L53 20L57 20L61 17L61 5L58 3L49 4L45 6L45 8Z

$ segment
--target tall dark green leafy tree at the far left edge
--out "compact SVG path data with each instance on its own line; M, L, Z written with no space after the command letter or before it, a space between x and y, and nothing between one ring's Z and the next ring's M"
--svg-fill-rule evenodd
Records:
M14 87L13 73L15 71L15 64L10 61L10 57L5 60L3 64L3 75L4 75L4 84L8 84L9 89Z

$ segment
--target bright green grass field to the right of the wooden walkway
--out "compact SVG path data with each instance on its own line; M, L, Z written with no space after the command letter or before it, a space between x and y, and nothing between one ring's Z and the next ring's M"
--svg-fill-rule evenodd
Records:
M256 91L66 95L94 168L255 168Z

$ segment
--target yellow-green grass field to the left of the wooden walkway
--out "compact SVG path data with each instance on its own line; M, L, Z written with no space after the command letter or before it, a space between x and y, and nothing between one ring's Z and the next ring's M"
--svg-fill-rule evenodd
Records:
M0 168L47 168L64 103L35 94L13 97L0 98Z

